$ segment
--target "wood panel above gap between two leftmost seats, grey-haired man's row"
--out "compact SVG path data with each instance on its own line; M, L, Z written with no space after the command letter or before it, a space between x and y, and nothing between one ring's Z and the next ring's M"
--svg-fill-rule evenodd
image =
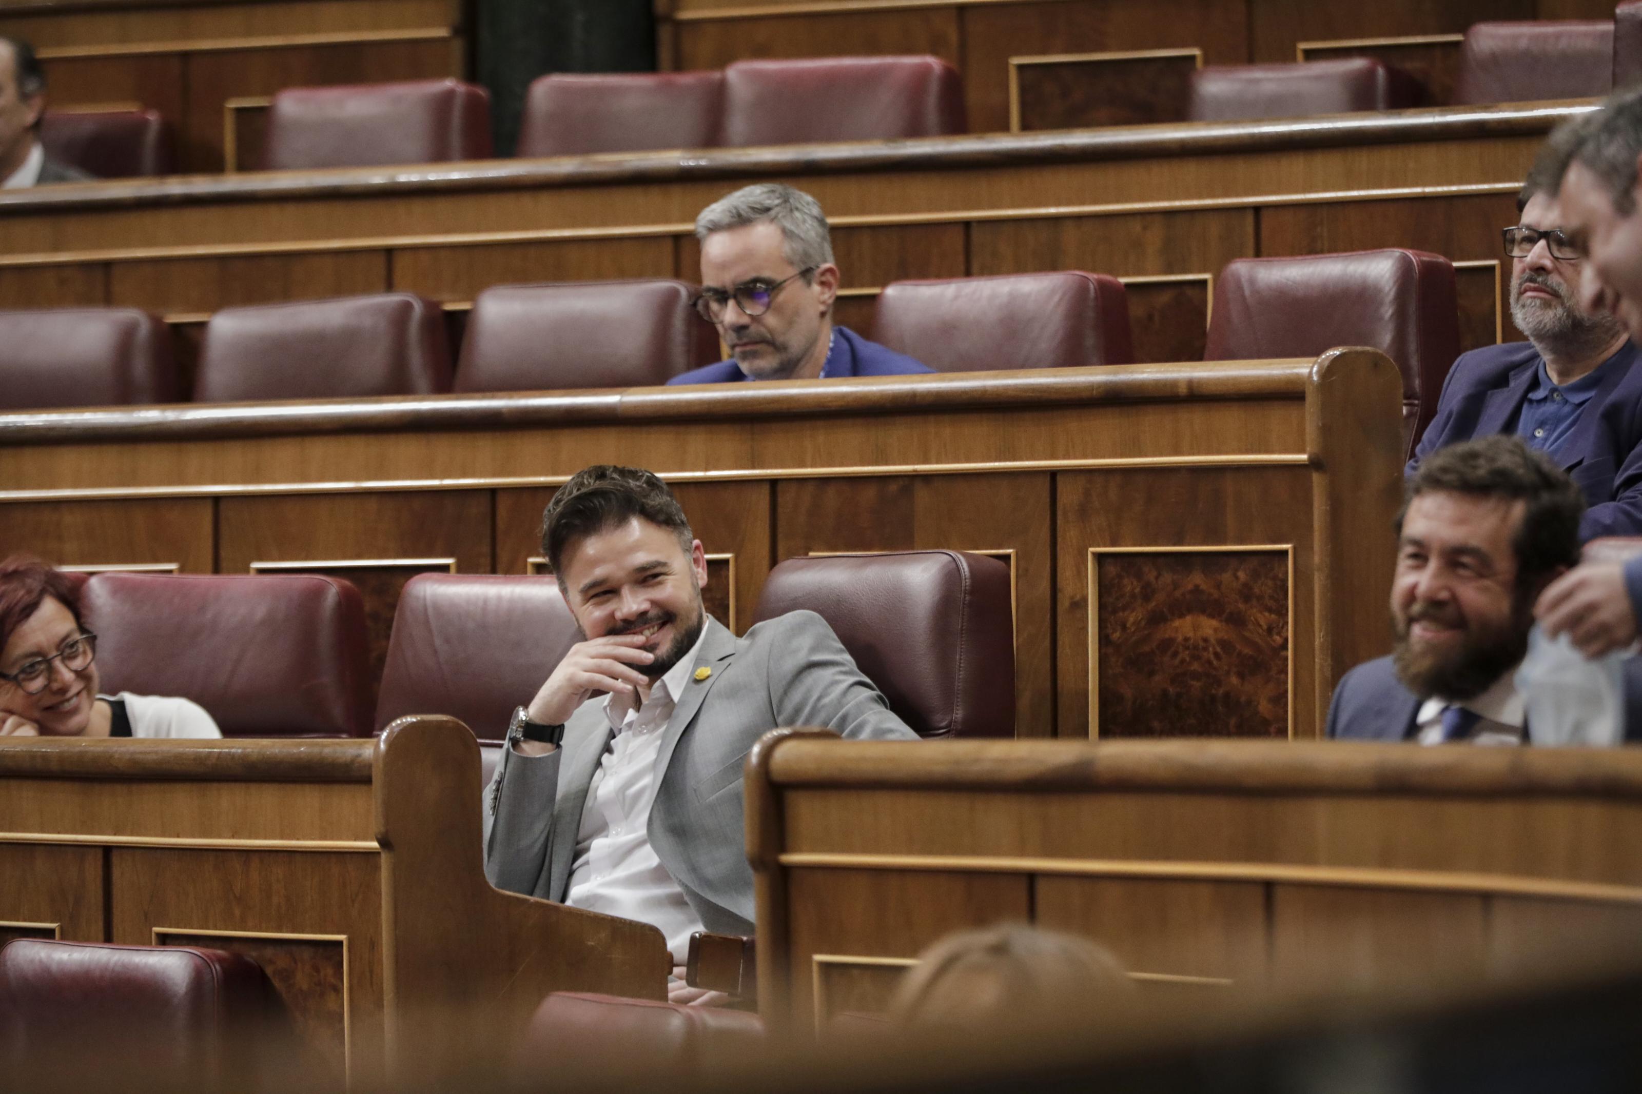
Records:
M115 262L108 299L156 313L199 313L386 290L388 261L381 251L330 251Z

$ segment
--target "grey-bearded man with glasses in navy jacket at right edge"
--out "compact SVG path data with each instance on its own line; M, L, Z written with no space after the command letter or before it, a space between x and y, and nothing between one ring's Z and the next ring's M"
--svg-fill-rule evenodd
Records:
M1553 138L1557 139L1557 138ZM1555 156L1547 149L1543 161ZM1580 541L1642 535L1642 369L1624 325L1580 310L1586 258L1563 231L1555 182L1535 169L1504 230L1511 318L1525 343L1461 354L1407 474L1438 448L1514 433L1585 494Z

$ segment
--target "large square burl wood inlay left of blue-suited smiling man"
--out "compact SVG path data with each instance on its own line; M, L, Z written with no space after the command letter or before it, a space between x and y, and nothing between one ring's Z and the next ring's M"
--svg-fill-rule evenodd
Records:
M1287 736L1289 553L1092 551L1097 736Z

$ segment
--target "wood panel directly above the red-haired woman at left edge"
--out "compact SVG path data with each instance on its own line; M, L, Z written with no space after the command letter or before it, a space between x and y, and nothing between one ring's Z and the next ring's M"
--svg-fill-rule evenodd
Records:
M5 507L0 556L28 551L59 566L176 564L212 572L209 499L25 502Z

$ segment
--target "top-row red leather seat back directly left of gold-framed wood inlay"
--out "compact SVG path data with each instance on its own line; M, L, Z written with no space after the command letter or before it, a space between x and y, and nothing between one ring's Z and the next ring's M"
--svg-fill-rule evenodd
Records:
M729 148L962 131L962 79L939 57L737 61L724 69Z

